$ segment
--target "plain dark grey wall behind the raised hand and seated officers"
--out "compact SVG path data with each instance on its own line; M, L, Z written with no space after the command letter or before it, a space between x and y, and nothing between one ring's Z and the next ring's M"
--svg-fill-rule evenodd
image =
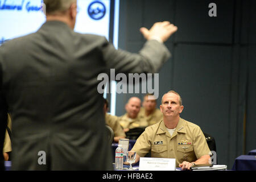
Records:
M209 3L217 5L210 17ZM159 71L159 98L175 90L183 98L181 117L213 135L218 164L256 148L256 1L121 0L119 48L138 52L140 27L168 20L179 29L165 43L172 57ZM116 115L131 96L117 94Z

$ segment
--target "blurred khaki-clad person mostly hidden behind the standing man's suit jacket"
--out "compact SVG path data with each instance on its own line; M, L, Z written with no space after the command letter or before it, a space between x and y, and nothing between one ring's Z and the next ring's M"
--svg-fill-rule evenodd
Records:
M114 142L118 143L119 139L125 138L126 135L118 122L118 117L107 113L109 110L109 102L105 98L104 98L104 101L105 101L104 112L105 112L106 125L112 128L112 130L114 131Z

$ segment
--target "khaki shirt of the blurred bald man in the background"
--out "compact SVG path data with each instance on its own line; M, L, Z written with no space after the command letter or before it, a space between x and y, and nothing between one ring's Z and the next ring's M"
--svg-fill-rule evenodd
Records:
M134 129L135 127L147 127L148 123L145 118L138 117L131 119L127 117L127 113L119 117L119 123L123 129Z

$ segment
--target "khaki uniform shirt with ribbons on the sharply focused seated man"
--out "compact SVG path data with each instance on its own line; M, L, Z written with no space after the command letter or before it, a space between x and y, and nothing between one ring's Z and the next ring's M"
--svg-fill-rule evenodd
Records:
M175 158L176 167L183 161L195 162L201 156L210 154L200 127L182 118L172 137L163 121L148 126L131 150L142 157L151 151L152 158Z

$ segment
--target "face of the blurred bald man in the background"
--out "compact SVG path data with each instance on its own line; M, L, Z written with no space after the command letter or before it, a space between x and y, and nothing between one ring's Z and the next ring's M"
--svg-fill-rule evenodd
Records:
M131 98L125 107L129 118L137 118L141 109L141 100L139 98Z

